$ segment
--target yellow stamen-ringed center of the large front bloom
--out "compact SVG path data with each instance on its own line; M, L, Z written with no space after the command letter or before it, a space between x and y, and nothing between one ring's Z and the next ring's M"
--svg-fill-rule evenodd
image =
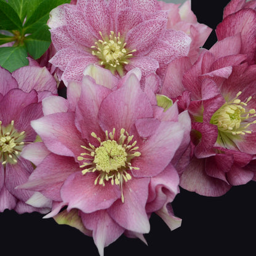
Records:
M86 152L78 156L78 161L82 161L81 168L82 174L87 172L99 172L94 184L105 186L105 181L111 180L111 185L119 185L122 193L122 183L127 182L132 178L129 174L130 170L138 170L138 167L133 167L131 160L141 155L138 152L138 146L135 146L137 141L132 142L134 135L130 136L125 129L121 129L118 140L114 140L115 129L108 134L106 130L106 139L102 140L92 132L92 137L97 138L100 146L97 148L89 143L89 148L81 145ZM84 157L86 156L86 157ZM122 202L124 196L122 194Z

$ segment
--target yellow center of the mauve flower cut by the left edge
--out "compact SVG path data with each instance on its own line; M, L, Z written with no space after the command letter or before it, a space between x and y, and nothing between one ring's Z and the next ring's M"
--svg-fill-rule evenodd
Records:
M16 164L17 158L23 149L25 132L17 132L14 129L14 121L6 127L0 121L0 161L2 164Z

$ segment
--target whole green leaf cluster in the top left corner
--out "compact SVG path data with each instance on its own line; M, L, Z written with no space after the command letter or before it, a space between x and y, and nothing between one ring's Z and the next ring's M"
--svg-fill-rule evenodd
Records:
M49 13L71 0L0 0L0 66L10 72L50 46ZM9 43L9 44L7 44Z

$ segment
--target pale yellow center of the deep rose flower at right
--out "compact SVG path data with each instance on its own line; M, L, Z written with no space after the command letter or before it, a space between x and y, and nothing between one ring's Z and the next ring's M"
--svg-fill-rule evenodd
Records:
M227 132L232 135L245 135L251 134L251 130L247 130L247 127L250 124L255 124L256 120L248 122L250 118L256 116L256 111L252 108L249 111L246 111L244 106L247 106L247 103L252 99L252 97L247 98L246 102L241 102L239 100L239 95L242 92L236 94L231 102L226 102L223 104L212 116L210 119L211 124L218 126L220 132Z

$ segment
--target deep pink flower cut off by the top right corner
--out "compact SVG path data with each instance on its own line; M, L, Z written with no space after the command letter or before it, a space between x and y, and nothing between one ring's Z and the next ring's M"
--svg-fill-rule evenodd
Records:
M241 34L241 54L249 65L256 62L256 1L233 0L225 8L223 21L217 26L218 40Z

